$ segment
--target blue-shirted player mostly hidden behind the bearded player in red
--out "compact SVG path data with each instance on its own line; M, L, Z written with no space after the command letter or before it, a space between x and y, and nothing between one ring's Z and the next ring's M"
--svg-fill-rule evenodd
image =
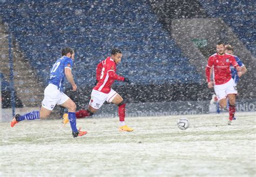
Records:
M233 49L232 45L230 45L230 44L225 45L225 52L230 54L230 55L233 55L234 49ZM238 56L233 55L233 57L237 61L238 65L241 67L241 76L242 76L243 74L245 74L247 72L247 69L246 69L245 65L241 62L241 59ZM212 68L211 68L211 70L212 70ZM240 77L238 77L238 72L233 67L233 65L230 65L230 70L231 70L232 79L234 79L234 82L235 82L235 86L237 86L239 78L240 78ZM212 99L210 101L210 104L215 103L215 101L217 101L217 100L218 100L217 96L215 94L213 94ZM226 102L226 105L224 105L224 107L228 107L228 105L229 105L229 101L228 101L228 98L227 98L227 102ZM217 102L217 108L219 109L219 103L218 102ZM217 112L219 112L219 111L217 111Z

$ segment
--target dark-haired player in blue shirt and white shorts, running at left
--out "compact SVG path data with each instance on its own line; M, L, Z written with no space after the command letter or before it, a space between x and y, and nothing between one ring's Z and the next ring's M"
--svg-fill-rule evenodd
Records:
M22 120L35 120L49 117L56 104L68 108L69 113L67 118L70 120L70 126L72 129L72 135L74 138L82 137L87 132L77 130L76 127L76 104L62 92L62 84L65 77L72 85L73 91L76 91L77 85L73 80L71 73L73 60L75 59L75 52L70 47L65 47L62 50L62 57L59 58L53 65L50 72L49 85L44 90L44 99L42 101L42 107L40 111L32 111L25 115L15 114L11 121L11 127L14 127L19 121Z

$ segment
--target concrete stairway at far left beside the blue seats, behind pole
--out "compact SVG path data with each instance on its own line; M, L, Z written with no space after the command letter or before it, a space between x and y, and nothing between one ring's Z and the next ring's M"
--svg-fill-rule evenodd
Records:
M8 33L4 25L0 24L0 72L10 82L9 45ZM30 66L28 60L24 59L21 52L18 52L17 44L12 47L14 60L14 86L17 97L22 101L24 107L41 107L43 100L44 85L39 83L36 72Z

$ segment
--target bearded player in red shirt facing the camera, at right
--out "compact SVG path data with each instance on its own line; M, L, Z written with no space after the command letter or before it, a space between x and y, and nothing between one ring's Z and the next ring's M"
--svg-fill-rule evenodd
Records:
M230 65L233 65L237 71L241 71L241 67L238 66L235 58L232 55L225 53L225 44L218 43L216 45L217 53L210 56L208 64L206 66L206 78L208 82L208 88L213 88L217 95L221 108L226 108L226 97L230 100L230 117L228 125L232 125L232 120L235 113L235 96L237 94L237 88L234 80L231 77ZM211 81L210 70L213 66L214 81ZM238 72L238 77L241 77L241 72Z

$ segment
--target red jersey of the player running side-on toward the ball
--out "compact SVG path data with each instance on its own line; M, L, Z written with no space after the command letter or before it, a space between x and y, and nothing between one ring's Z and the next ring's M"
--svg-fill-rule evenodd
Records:
M116 74L116 63L114 63L111 57L107 57L97 65L96 80L98 80L98 83L93 89L103 93L109 93L114 80L123 81L124 77Z

